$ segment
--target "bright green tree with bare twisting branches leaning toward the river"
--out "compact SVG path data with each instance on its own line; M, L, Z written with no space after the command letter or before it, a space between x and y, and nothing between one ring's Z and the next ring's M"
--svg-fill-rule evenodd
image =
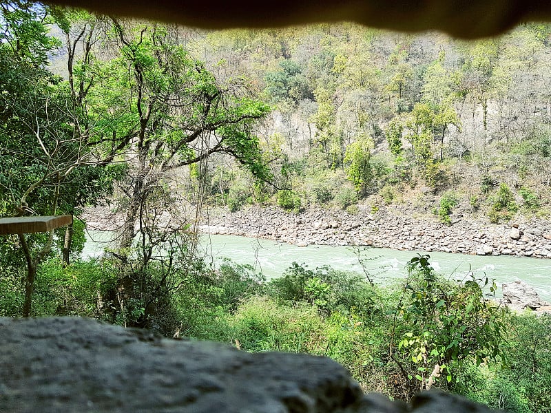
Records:
M116 58L100 65L105 75L88 96L96 107L109 104L118 113L107 125L113 156L125 154L129 178L120 238L132 246L148 197L163 187L163 176L212 153L229 153L261 180L269 180L258 138L251 131L269 107L256 100L243 79L220 83L205 65L178 44L176 34L156 23L112 20ZM111 87L117 100L101 96ZM107 140L107 138L101 138ZM141 225L139 225L142 227ZM127 255L127 253L123 253Z

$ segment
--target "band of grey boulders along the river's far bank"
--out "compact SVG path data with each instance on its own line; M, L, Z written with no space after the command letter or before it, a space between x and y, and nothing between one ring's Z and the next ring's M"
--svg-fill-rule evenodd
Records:
M391 205L371 213L360 205L346 211L308 207L287 213L279 207L249 207L230 213L211 210L201 231L245 235L290 244L357 245L399 250L441 251L472 255L517 255L551 258L551 223L545 220L490 224L487 218L453 217L452 225L434 215L416 215L408 206Z

